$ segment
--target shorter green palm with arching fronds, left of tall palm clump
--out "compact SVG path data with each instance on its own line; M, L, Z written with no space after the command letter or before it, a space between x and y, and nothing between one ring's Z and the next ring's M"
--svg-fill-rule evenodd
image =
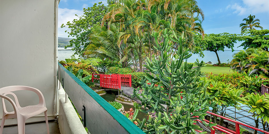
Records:
M90 34L90 44L87 46L84 55L86 57L108 58L110 60L119 61L122 67L130 64L128 59L128 50L126 44L118 44L120 42L119 28L116 25L106 27L95 27L94 32Z

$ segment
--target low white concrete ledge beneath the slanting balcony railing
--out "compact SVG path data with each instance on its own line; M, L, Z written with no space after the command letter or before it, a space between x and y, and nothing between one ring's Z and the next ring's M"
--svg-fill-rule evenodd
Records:
M63 89L59 91L59 99L58 123L61 134L87 134L70 100L65 103Z

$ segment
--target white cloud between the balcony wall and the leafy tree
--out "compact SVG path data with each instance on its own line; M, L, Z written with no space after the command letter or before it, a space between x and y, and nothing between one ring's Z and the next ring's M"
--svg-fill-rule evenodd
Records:
M68 21L72 22L74 19L78 19L77 16L83 15L82 10L76 9L67 9L67 8L59 8L58 9L58 37L66 37L68 38L68 34L64 31L68 30L68 28L61 28L62 24L66 24Z

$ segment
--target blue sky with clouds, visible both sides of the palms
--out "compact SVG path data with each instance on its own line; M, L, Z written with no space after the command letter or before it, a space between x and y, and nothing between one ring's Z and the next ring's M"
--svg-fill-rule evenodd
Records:
M260 26L269 29L269 0L196 0L203 10L205 20L203 29L206 34L235 33L240 34L240 23L248 15L255 15L260 19ZM83 8L91 7L100 0L61 0L58 13L58 36L67 37L60 25L76 19L75 14L82 15ZM102 0L104 3L105 0ZM239 46L238 42L235 46ZM237 49L237 48L235 48ZM240 49L240 48L238 48Z

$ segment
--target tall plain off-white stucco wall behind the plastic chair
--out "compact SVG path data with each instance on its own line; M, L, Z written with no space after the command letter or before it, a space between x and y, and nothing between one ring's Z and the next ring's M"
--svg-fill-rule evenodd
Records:
M0 88L24 85L39 89L45 97L48 115L52 115L54 0L0 0L0 26ZM21 106L39 102L33 93L17 92L17 96ZM44 117L27 122L41 120ZM9 119L5 125L16 123L16 119Z

